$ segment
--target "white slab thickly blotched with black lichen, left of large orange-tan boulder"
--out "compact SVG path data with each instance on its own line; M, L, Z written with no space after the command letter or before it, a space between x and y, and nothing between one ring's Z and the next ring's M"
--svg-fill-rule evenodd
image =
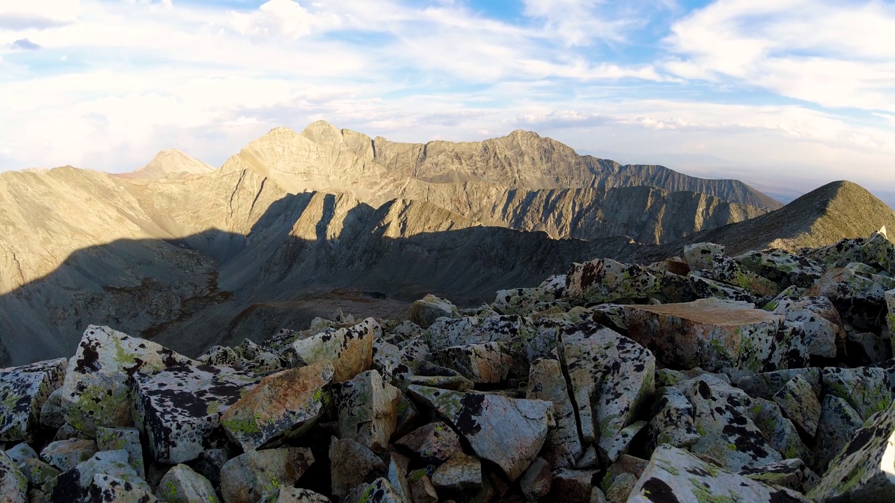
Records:
M213 365L171 367L134 376L134 419L157 461L185 463L224 443L221 413L260 378Z

